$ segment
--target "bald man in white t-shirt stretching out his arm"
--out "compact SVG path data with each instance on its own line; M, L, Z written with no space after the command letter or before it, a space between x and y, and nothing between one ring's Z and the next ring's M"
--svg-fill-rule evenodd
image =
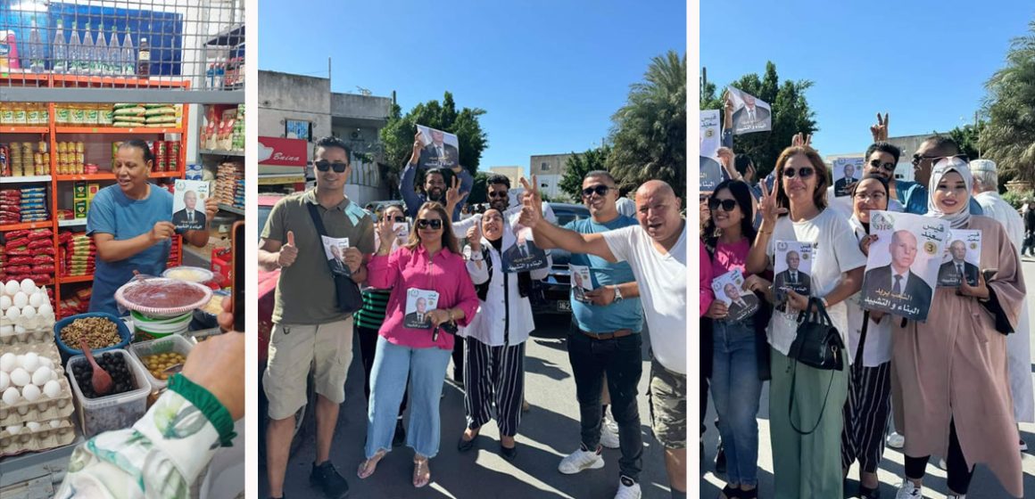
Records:
M639 226L579 233L545 221L538 189L524 179L521 223L542 248L626 261L640 283L652 345L650 401L654 436L666 447L673 498L686 497L686 220L669 184L652 180L637 189ZM532 177L532 185L538 185Z

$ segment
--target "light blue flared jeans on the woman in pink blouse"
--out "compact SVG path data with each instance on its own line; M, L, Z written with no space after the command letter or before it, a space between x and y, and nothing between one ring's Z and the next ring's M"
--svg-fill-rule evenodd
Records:
M378 337L366 413L367 459L378 450L391 450L395 416L406 392L407 378L410 379L410 424L406 431L406 444L427 458L439 454L439 399L450 355L451 350L410 348Z

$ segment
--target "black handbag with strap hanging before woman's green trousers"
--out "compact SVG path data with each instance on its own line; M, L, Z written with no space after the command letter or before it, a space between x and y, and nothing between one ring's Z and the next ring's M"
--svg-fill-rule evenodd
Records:
M816 309L812 312L812 309ZM830 388L834 384L835 371L845 368L845 358L841 351L845 349L845 342L841 341L840 333L834 328L833 321L827 315L827 309L823 302L816 298L808 299L808 306L798 314L798 335L791 343L791 350L788 352L790 358L794 358L794 373L791 375L791 401L787 405L787 417L791 423L791 428L799 435L808 435L820 427L823 422L823 413L826 412L827 400L830 398ZM830 382L827 384L827 394L823 398L823 409L820 410L820 417L816 419L810 430L802 431L794 424L794 399L795 382L798 378L798 363L804 364L815 369L830 371Z

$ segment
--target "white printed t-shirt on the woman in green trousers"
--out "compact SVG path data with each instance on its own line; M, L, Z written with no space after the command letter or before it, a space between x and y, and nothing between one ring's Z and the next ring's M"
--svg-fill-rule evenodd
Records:
M776 228L769 237L769 245L766 247L770 268L773 264L777 241L814 243L811 275L814 297L826 297L840 283L842 273L866 266L866 255L859 249L852 226L836 210L823 210L811 220L801 222L792 222L789 216L777 219ZM845 302L832 305L827 309L827 313L847 345L848 308ZM791 343L798 334L798 313L773 311L767 333L769 344L787 355L791 350Z

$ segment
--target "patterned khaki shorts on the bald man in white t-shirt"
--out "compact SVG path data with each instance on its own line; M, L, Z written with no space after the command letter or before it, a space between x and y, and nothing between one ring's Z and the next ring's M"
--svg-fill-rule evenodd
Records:
M666 448L686 448L686 375L650 363L650 422Z

